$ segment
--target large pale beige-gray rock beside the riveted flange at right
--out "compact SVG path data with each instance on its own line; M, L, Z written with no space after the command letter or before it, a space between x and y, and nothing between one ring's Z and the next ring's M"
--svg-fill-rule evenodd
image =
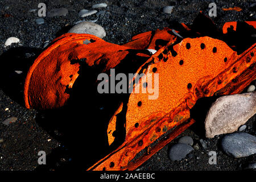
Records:
M205 119L205 135L233 133L256 113L256 92L223 96L210 107Z

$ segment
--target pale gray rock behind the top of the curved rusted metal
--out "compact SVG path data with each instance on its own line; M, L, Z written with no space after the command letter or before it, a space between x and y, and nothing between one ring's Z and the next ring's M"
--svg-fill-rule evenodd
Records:
M98 38L104 38L106 36L106 31L104 28L96 23L92 22L81 22L76 24L68 31L69 33L76 34L90 34L95 35Z

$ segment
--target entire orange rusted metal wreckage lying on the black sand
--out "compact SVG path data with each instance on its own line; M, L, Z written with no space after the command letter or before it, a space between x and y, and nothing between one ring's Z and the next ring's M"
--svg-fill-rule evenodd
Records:
M211 24L210 20L205 21ZM127 61L124 58L131 49L137 50L137 55L146 61L139 63L136 73L159 74L159 97L148 100L148 94L131 93L128 101L121 102L106 132L111 145L117 115L125 114L125 141L88 169L134 170L195 122L189 109L199 98L240 93L256 78L256 43L249 39L250 35L242 35L241 23L227 22L222 32L209 30L210 36L205 27L200 29L195 24L182 23L175 31L181 37L164 28L136 35L122 46L88 34L64 34L53 40L30 68L24 89L26 106L64 106L70 97L66 89L72 89L80 75L80 63L74 60L84 61L89 68L100 65L98 73L108 72ZM243 30L250 31L248 34L255 34L255 25L256 22L242 22ZM232 40L238 34L246 36L246 45ZM84 44L85 40L90 43ZM157 52L149 56L144 49ZM140 85L142 81L139 80ZM138 155L143 150L146 152Z

